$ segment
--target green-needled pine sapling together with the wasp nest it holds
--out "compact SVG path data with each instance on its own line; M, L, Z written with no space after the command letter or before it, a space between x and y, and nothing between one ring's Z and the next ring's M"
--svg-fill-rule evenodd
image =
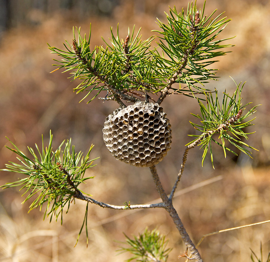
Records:
M136 167L150 168L162 200L160 203L132 205L125 202L123 206L116 206L100 202L83 193L78 186L92 178L83 177L86 169L93 166L94 160L89 160L92 146L85 157L82 157L81 152L75 153L73 146L71 149L70 141L65 144L63 151L61 146L63 147L64 142L53 151L51 134L48 147L43 145L41 151L37 147L37 154L29 148L33 160L14 144L15 149L9 148L19 156L20 164L11 162L4 170L25 174L26 178L19 178L18 181L2 187L21 185L22 189L26 190L24 194L28 194L26 200L36 197L30 209L41 208L46 203L44 216L47 214L52 218L55 214L56 219L59 214L62 216L65 205L69 208L73 199L86 201L85 216L79 235L84 225L87 234L89 203L121 210L163 208L172 218L187 247L187 251L179 252L179 257L202 262L199 251L173 206L173 197L184 172L187 154L190 149L200 146L203 149L202 164L207 152L210 152L213 164L212 142L222 147L225 157L226 151L236 154L225 145L228 141L250 156L250 149L254 148L242 140L247 140L251 134L244 128L252 125L254 118L247 118L256 112L256 107L247 109L250 103L242 105L241 91L244 85L240 87L240 84L236 84L236 91L232 95L225 90L222 100L219 99L217 90L205 88L206 83L216 79L217 69L210 66L217 61L218 56L227 53L222 51L223 48L231 45L222 44L228 39L217 40L217 36L229 20L222 17L223 14L214 17L215 11L206 16L204 11L205 3L202 10L196 8L196 2L189 4L186 12L184 9L177 12L174 7L166 14L167 23L158 20L160 31L155 30L157 36L144 41L139 35L140 30L135 33L135 27L131 32L128 29L128 35L124 40L120 38L118 28L116 34L111 28L110 41L107 43L103 39L105 47L92 48L91 28L89 37L81 35L80 29L76 28L77 38L73 28L72 44L66 41L64 50L49 45L52 53L61 57L60 60L55 60L58 62L58 69L65 68L65 71L71 71L73 80L81 80L74 91L77 94L86 91L82 100L92 96L88 100L89 103L104 94L105 97L98 98L118 103L119 108L105 119L104 142L117 160ZM190 123L197 133L190 135L195 139L186 145L180 171L170 194L167 195L155 165L162 161L171 148L171 125L161 107L161 103L170 94L190 97L198 105L200 114L193 114L199 122ZM168 258L168 249L164 249L167 242L157 231L145 231L135 240L127 237L127 242L131 248L122 248L122 251L130 251L137 261L166 261Z

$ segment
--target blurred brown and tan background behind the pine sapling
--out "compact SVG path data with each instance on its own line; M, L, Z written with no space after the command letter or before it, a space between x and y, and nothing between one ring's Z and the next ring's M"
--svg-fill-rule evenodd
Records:
M54 146L72 138L77 151L86 152L95 144L92 158L99 157L89 176L96 176L81 188L97 200L122 205L146 203L158 198L149 169L128 166L116 161L104 145L104 119L118 107L114 101L95 100L78 103L84 94L75 95L79 82L70 82L68 73L55 69L56 58L47 48L62 48L66 39L72 41L72 27L81 27L82 34L92 25L91 44L103 44L110 37L110 26L125 38L128 27L142 27L143 39L158 29L158 17L165 22L165 12L176 5L180 12L188 1L170 0L0 0L0 168L8 161L16 161L5 146L5 136L19 149L41 146L41 134L47 142L52 130ZM197 1L203 7L203 1ZM216 1L208 0L205 14L224 11L232 21L224 29L222 38L233 44L226 56L215 64L219 81L211 81L207 88L216 87L220 93L231 93L235 84L245 82L243 103L262 104L256 113L255 126L248 131L248 143L259 149L253 159L245 155L235 157L214 146L214 165L210 157L201 166L202 151L189 152L184 175L174 205L195 243L207 233L230 227L268 220L270 217L270 4L267 0ZM189 124L196 119L199 108L192 98L171 95L162 104L173 130L172 149L157 169L166 192L170 192L182 161L185 144L194 134ZM45 143L46 143L45 142ZM236 149L235 149L236 150ZM237 152L237 150L236 150ZM0 184L14 181L18 175L0 173ZM213 179L214 178L214 179ZM212 180L208 180L212 179ZM205 181L202 183L203 181ZM179 233L164 210L115 211L91 205L88 215L89 243L86 248L85 231L75 248L76 237L85 212L85 203L76 201L70 212L60 221L43 221L43 212L28 212L28 204L21 205L23 192L18 189L0 191L0 261L124 261L128 254L117 255L117 241L142 233L145 227L158 227L170 239L173 247L168 261L178 260L185 251ZM30 205L30 202L29 202ZM199 247L204 261L251 261L250 249L259 253L262 242L265 257L270 249L270 224L220 233L207 237ZM266 259L266 258L265 258Z

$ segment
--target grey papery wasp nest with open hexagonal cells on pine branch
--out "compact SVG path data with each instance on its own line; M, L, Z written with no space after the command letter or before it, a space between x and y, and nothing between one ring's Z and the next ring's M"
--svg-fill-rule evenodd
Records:
M171 125L158 104L136 102L105 119L103 139L112 155L127 164L151 167L171 146Z

